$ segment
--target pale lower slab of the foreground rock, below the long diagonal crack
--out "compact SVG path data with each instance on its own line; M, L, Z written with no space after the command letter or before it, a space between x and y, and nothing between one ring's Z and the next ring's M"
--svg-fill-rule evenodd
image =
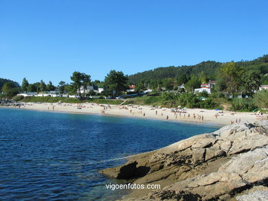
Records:
M140 200L162 200L162 198L166 199L166 196L177 200L187 200L187 198L225 200L234 192L241 192L263 183L267 185L267 156L268 146L238 155L222 165L218 172L176 182L174 185L149 193Z

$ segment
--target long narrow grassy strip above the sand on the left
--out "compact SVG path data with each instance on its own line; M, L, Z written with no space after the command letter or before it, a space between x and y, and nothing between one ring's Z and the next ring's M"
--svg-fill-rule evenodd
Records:
M96 104L121 104L123 101L121 99L85 99L80 100L76 98L71 97L34 97L34 96L28 96L28 97L13 97L14 100L20 101L20 102L46 102L46 103L57 103L57 102L63 102L63 103L70 103L70 104L76 104L76 103L83 103L83 102L89 102L89 103L96 103Z

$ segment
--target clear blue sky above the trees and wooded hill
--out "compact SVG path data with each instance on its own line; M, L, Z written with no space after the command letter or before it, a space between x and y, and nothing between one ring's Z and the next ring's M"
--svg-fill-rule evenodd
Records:
M0 78L104 80L268 54L268 1L0 0Z

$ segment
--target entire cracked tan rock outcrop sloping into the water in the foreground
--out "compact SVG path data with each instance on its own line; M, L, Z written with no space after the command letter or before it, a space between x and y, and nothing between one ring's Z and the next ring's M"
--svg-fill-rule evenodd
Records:
M224 126L100 173L161 185L133 190L124 200L268 200L268 121Z

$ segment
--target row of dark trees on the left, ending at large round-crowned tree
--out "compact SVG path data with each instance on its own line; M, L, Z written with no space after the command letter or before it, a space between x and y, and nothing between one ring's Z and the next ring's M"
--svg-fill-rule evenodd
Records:
M20 86L12 80L1 79L4 83L0 89L6 97L13 97L18 93L55 91L56 88L60 94L78 94L80 97L87 97L87 95L96 95L96 92L93 90L86 93L88 86L93 86L93 88L104 88L101 95L107 96L120 95L122 94L122 91L125 91L126 88L128 88L128 77L124 75L122 71L110 71L104 78L103 82L100 82L100 80L91 81L91 75L78 71L74 71L74 73L70 76L70 79L72 81L71 83L60 81L57 86L55 86L51 81L45 84L43 80L30 84L26 78L23 78Z

